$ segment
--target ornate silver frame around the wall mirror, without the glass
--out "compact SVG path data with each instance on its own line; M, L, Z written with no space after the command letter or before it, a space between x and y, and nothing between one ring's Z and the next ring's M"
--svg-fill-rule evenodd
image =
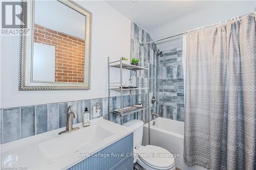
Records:
M33 30L34 30L34 1L25 1L28 11L23 12L22 21L27 22L28 35L20 36L19 59L19 90L88 90L91 79L91 44L92 44L92 13L73 1L58 1L80 14L86 16L86 38L84 49L84 82L83 83L59 83L32 81L32 55L33 55ZM26 17L27 16L27 17ZM22 28L26 29L26 28Z

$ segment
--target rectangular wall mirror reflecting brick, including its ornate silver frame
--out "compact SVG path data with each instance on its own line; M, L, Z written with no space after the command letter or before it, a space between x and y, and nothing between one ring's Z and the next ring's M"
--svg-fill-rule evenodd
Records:
M28 1L19 90L90 89L92 13L73 1ZM29 20L30 19L30 20Z

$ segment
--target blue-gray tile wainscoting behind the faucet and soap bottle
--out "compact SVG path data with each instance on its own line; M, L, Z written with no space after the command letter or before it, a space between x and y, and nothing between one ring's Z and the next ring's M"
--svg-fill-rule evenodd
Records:
M108 98L1 109L1 143L65 127L69 105L72 105L71 110L78 114L78 118L73 119L74 124L82 122L82 113L86 107L91 110L91 119L97 118L93 117L93 106L98 102L102 107L99 115L101 117L102 110L108 110Z

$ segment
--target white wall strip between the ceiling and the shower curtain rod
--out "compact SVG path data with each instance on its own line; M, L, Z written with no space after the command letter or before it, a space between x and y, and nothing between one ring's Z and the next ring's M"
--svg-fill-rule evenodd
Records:
M181 15L160 25L146 28L146 31L154 40L160 39L253 12L255 5L255 1L210 1L208 6L198 8L198 10ZM156 44L160 50L170 49L181 46L182 37Z

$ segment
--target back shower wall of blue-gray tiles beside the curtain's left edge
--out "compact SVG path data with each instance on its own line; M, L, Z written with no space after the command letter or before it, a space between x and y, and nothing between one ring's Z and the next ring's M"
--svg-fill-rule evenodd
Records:
M163 51L160 58L160 116L184 122L182 47Z

